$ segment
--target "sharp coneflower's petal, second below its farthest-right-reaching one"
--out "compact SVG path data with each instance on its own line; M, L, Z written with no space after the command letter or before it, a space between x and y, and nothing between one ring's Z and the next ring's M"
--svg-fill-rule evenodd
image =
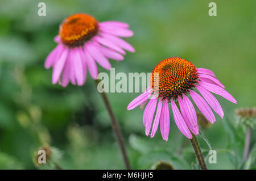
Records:
M196 106L199 108L201 113L203 113L204 117L207 120L209 120L210 123L214 123L215 117L214 117L212 110L208 106L207 102L205 102L205 100L199 94L197 94L195 91L191 90L191 91L189 91L189 93L190 93L193 101L196 103Z

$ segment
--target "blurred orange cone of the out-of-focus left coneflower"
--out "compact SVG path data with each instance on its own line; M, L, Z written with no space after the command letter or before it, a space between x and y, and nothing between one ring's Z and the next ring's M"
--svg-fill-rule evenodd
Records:
M64 44L79 46L98 32L98 22L87 14L74 14L60 25L59 35Z

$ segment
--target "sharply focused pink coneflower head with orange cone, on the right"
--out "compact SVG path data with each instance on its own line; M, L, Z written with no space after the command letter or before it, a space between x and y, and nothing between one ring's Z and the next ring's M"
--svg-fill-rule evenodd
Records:
M168 140L170 131L168 103L171 103L177 127L189 139L192 139L191 132L195 135L199 133L195 107L188 98L189 95L201 113L212 124L216 120L212 109L221 118L223 118L224 112L218 100L210 92L221 95L230 102L237 103L211 70L196 68L190 61L179 57L166 58L160 61L152 71L150 82L148 89L135 98L127 110L132 110L139 105L143 107L149 99L143 113L143 125L146 128L147 136L152 126L151 138L154 137L160 124L163 140ZM152 123L154 115L155 119Z

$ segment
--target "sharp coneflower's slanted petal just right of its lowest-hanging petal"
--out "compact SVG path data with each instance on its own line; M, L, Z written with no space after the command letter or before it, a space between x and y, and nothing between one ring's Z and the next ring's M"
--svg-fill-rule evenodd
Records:
M189 131L183 117L181 116L180 111L178 110L174 100L171 100L171 107L172 107L172 113L174 114L175 123L179 128L180 132L183 133L185 137L192 139L192 134Z

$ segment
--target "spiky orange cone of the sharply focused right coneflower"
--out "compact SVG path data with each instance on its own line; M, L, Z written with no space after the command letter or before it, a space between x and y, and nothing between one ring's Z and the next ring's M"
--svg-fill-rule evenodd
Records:
M179 57L166 58L155 66L151 74L151 88L158 97L177 99L177 96L187 94L199 78L196 67L188 60Z

